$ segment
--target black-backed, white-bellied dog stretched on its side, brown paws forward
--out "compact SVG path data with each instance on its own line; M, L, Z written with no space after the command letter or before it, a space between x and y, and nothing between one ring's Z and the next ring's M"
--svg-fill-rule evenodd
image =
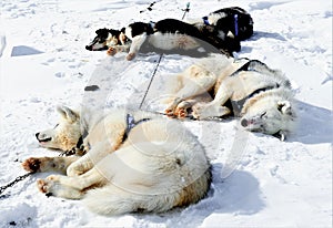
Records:
M164 19L158 22L134 22L121 30L99 29L97 37L85 46L89 51L108 49L109 55L129 52L127 60L132 60L143 44L158 51L190 51L203 48L208 52L232 52L241 50L240 41L233 37L219 37L210 28L198 28L176 20Z

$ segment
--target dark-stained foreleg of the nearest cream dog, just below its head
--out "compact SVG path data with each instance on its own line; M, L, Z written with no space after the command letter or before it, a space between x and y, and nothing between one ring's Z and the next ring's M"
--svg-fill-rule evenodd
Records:
M67 168L80 157L30 157L22 163L28 172L60 172L65 174Z

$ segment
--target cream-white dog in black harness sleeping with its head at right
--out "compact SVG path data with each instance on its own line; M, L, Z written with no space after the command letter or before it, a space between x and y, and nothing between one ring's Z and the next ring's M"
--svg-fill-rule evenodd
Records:
M295 125L290 81L258 60L215 56L170 79L165 113L183 118L240 117L241 126L284 139Z

